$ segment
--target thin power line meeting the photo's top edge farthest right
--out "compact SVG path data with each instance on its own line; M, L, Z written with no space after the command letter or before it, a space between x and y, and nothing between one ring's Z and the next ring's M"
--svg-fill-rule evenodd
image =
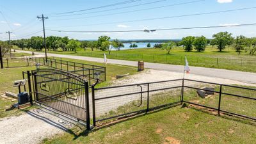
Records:
M170 5L165 5L165 6L155 6L152 8L143 8L140 10L131 10L131 11L125 11L125 12L118 12L118 13L109 13L109 14L104 14L104 15L93 15L93 16L88 16L88 17L76 17L76 18L70 18L70 19L53 19L53 20L73 20L73 19L85 19L85 18L90 18L90 17L103 17L103 16L108 16L108 15L118 15L122 13L132 13L132 12L140 12L140 11L145 11L145 10L153 10L157 8L165 8L165 7L170 7L170 6L178 6L178 5L183 5L183 4L191 4L191 3L198 3L202 2L205 0L198 0L198 1L189 1L185 3L177 3L177 4L170 4Z

